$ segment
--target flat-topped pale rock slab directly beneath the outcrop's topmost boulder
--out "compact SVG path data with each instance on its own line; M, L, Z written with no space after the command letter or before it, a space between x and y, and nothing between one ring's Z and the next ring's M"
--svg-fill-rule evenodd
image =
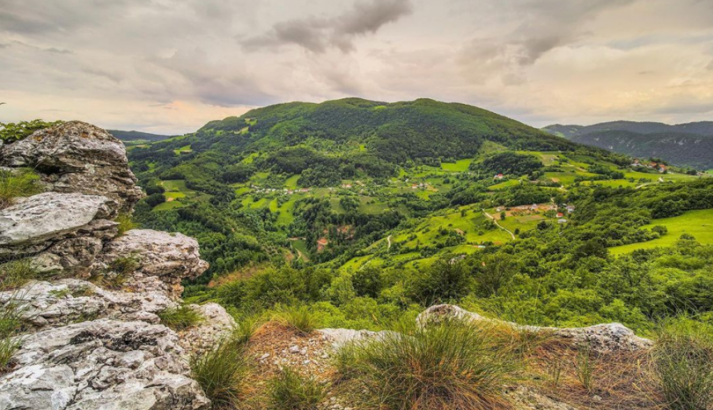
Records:
M33 255L39 270L86 270L116 236L116 202L98 195L41 193L0 210L0 257Z

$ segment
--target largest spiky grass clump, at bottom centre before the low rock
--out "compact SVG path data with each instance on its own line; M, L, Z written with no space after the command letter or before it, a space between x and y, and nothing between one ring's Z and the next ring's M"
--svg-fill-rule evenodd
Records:
M496 340L488 324L445 321L348 344L337 369L368 392L367 406L379 409L499 409L520 359Z

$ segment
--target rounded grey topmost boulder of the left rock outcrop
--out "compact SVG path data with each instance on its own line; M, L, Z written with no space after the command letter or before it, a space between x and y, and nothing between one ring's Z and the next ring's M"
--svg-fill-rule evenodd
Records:
M38 130L4 145L0 164L35 168L51 190L104 195L116 200L122 210L131 210L143 196L128 168L123 143L81 121Z

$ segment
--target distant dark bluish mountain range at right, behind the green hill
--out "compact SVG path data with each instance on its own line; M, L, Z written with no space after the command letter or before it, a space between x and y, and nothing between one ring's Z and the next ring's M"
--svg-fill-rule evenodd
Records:
M548 125L545 132L640 158L662 158L673 165L713 168L713 121L669 125L611 121L594 125Z

